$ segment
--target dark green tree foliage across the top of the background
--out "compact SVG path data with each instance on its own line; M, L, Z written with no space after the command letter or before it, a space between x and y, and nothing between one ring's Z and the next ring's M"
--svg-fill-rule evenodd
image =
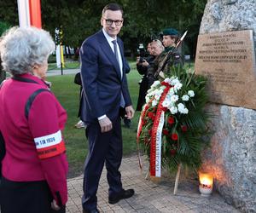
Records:
M107 0L41 0L43 28L55 36L55 28L63 32L62 43L78 47L84 38L101 27L102 8ZM195 43L201 24L201 16L207 0L118 0L123 6L125 21L120 36L125 49L136 52L138 43L148 43L159 37L165 27L174 27L183 33L189 30L185 43L190 55L194 55ZM18 24L17 3L1 1L0 18L11 25ZM2 20L2 19L1 19Z

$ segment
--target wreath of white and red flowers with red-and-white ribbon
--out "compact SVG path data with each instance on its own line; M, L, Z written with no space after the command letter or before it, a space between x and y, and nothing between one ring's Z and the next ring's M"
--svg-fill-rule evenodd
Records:
M161 166L173 171L179 164L195 169L201 165L211 117L205 111L206 83L206 78L194 72L173 68L148 89L137 142L143 143L148 154L151 176L160 176Z

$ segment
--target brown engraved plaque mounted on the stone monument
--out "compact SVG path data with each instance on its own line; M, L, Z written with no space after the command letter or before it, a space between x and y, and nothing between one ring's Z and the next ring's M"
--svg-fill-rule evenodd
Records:
M199 35L195 73L207 76L210 101L256 109L253 31Z

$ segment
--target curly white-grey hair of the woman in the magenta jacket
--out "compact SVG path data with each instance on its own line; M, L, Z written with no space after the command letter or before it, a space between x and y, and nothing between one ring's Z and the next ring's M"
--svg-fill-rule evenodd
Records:
M0 37L3 70L12 75L32 72L41 66L55 50L49 32L36 27L12 27Z

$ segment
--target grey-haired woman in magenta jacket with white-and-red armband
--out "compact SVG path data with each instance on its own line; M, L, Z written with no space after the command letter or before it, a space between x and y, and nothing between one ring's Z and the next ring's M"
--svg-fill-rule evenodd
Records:
M44 82L55 43L48 32L11 28L0 39L1 213L65 212L67 158L61 130L67 113Z

